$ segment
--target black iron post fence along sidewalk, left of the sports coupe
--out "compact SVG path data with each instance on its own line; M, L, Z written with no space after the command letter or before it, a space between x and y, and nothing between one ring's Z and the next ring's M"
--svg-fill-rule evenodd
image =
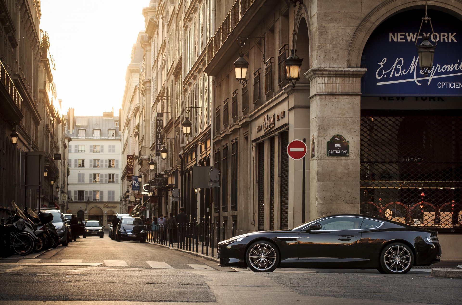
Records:
M235 223L232 223L231 237L235 235ZM223 237L223 238L220 238ZM193 219L177 225L158 224L147 232L147 240L156 244L176 247L217 257L217 245L226 239L225 223L209 222L205 219Z

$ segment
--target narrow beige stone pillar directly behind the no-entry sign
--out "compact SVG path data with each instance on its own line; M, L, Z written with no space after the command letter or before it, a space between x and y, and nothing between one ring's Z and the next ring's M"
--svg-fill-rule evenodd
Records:
M310 86L297 84L295 88L286 86L283 88L288 94L288 122L289 143L292 140L310 138ZM309 149L308 149L309 152ZM309 219L310 211L310 160L306 155L305 164L305 221ZM282 153L287 153L283 151ZM289 228L302 223L302 198L303 198L303 159L293 160L289 158Z

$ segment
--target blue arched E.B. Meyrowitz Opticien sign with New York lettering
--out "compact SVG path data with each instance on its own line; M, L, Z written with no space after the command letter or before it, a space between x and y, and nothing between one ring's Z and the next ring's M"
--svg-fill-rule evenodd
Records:
M462 21L447 13L428 10L432 18L423 23L424 9L401 12L388 18L368 39L361 59L367 72L361 79L362 96L462 96ZM415 48L422 32L437 45L428 76L420 71Z

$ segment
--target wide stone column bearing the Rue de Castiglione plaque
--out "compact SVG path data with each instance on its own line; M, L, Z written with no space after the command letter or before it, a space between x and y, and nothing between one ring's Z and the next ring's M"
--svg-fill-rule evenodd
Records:
M311 218L359 213L360 80L365 71L316 68L305 73L310 80L310 129L315 139L315 157L310 158ZM327 141L339 134L350 142L349 156L328 157Z

